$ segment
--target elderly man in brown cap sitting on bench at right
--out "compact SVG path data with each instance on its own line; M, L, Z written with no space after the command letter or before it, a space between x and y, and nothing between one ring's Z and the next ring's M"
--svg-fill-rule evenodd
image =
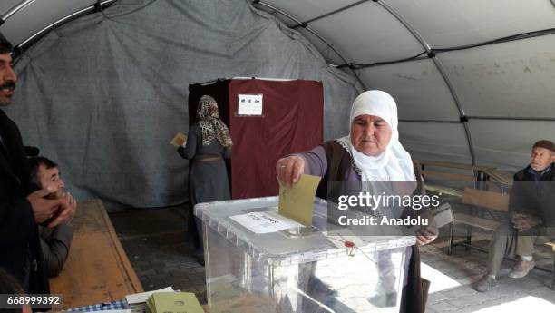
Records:
M478 291L499 287L495 276L505 255L519 256L509 273L512 279L521 279L534 268L534 241L538 236L552 236L549 230L555 226L554 162L555 144L541 140L532 147L530 165L514 174L509 200L510 223L501 224L492 235L488 272L478 281Z

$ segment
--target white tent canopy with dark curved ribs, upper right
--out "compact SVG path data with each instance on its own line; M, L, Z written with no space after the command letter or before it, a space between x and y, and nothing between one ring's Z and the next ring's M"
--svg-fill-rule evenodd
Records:
M392 93L405 122L402 141L414 154L518 167L531 142L555 133L554 1L268 0L258 7L312 32L307 38L328 62L351 65L365 88Z

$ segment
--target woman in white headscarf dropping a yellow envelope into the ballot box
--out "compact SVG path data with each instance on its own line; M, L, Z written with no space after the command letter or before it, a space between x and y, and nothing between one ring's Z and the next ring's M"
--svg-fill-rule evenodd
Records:
M368 185L365 182L398 181L400 183L393 185L408 186L410 193L421 193L424 189L419 168L399 142L397 125L397 106L391 95L377 90L361 93L351 108L349 135L325 142L309 152L279 159L277 179L291 186L303 173L321 176L318 190L324 192L328 181L363 182L363 190ZM419 230L416 234L418 245L433 241L436 233L433 228ZM408 253L410 262L407 262L401 311L424 312L417 247L409 249Z

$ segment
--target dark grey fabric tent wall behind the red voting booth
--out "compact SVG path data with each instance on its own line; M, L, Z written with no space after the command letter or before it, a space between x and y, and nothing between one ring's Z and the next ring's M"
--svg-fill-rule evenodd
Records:
M125 1L55 29L16 65L6 108L25 144L60 164L79 198L134 207L186 201L188 84L219 77L321 80L325 138L347 132L355 78L246 0Z

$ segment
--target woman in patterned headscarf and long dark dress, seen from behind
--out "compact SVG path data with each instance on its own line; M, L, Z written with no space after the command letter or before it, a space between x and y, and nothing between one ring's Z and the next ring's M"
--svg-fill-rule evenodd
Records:
M231 156L231 136L219 119L218 103L209 95L200 98L197 122L189 129L189 137L178 152L189 163L189 234L190 243L202 252L201 222L193 215L195 204L229 200L229 183L224 159Z

